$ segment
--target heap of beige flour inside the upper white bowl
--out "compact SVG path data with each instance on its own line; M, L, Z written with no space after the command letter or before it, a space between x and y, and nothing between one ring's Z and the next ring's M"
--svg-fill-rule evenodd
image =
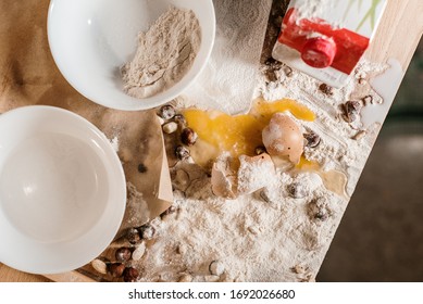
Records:
M124 91L141 99L171 88L191 67L200 43L195 13L171 8L146 33L139 33L134 59L121 68Z

